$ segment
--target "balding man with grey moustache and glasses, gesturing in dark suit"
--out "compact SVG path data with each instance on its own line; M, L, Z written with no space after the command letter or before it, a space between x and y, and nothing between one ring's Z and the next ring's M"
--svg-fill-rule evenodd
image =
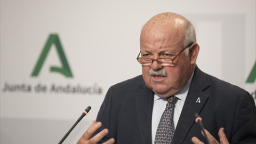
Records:
M211 143L256 143L252 96L203 73L196 66L198 52L194 26L186 18L175 13L151 18L140 36L137 60L142 76L110 87L98 122L77 143L158 143L156 135L170 98L177 100L169 119L175 132L171 128L166 143L206 143L195 113L203 118Z

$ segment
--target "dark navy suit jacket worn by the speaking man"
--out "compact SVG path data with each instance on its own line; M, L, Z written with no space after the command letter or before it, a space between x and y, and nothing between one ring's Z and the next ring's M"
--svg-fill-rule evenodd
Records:
M109 138L118 144L154 143L151 141L153 98L154 92L145 85L142 76L111 86L97 117L102 122L99 131L109 129L100 143ZM218 131L224 127L230 143L256 143L256 108L250 93L197 67L172 144L193 143L194 136L205 142L195 123L195 113L199 113L205 129L218 141Z

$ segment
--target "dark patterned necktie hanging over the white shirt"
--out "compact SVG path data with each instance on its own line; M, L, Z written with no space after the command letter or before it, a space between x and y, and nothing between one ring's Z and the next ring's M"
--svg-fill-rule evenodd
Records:
M171 143L175 131L175 126L173 122L173 113L175 103L178 98L172 95L167 98L168 103L166 104L164 113L160 119L157 127L155 144Z

